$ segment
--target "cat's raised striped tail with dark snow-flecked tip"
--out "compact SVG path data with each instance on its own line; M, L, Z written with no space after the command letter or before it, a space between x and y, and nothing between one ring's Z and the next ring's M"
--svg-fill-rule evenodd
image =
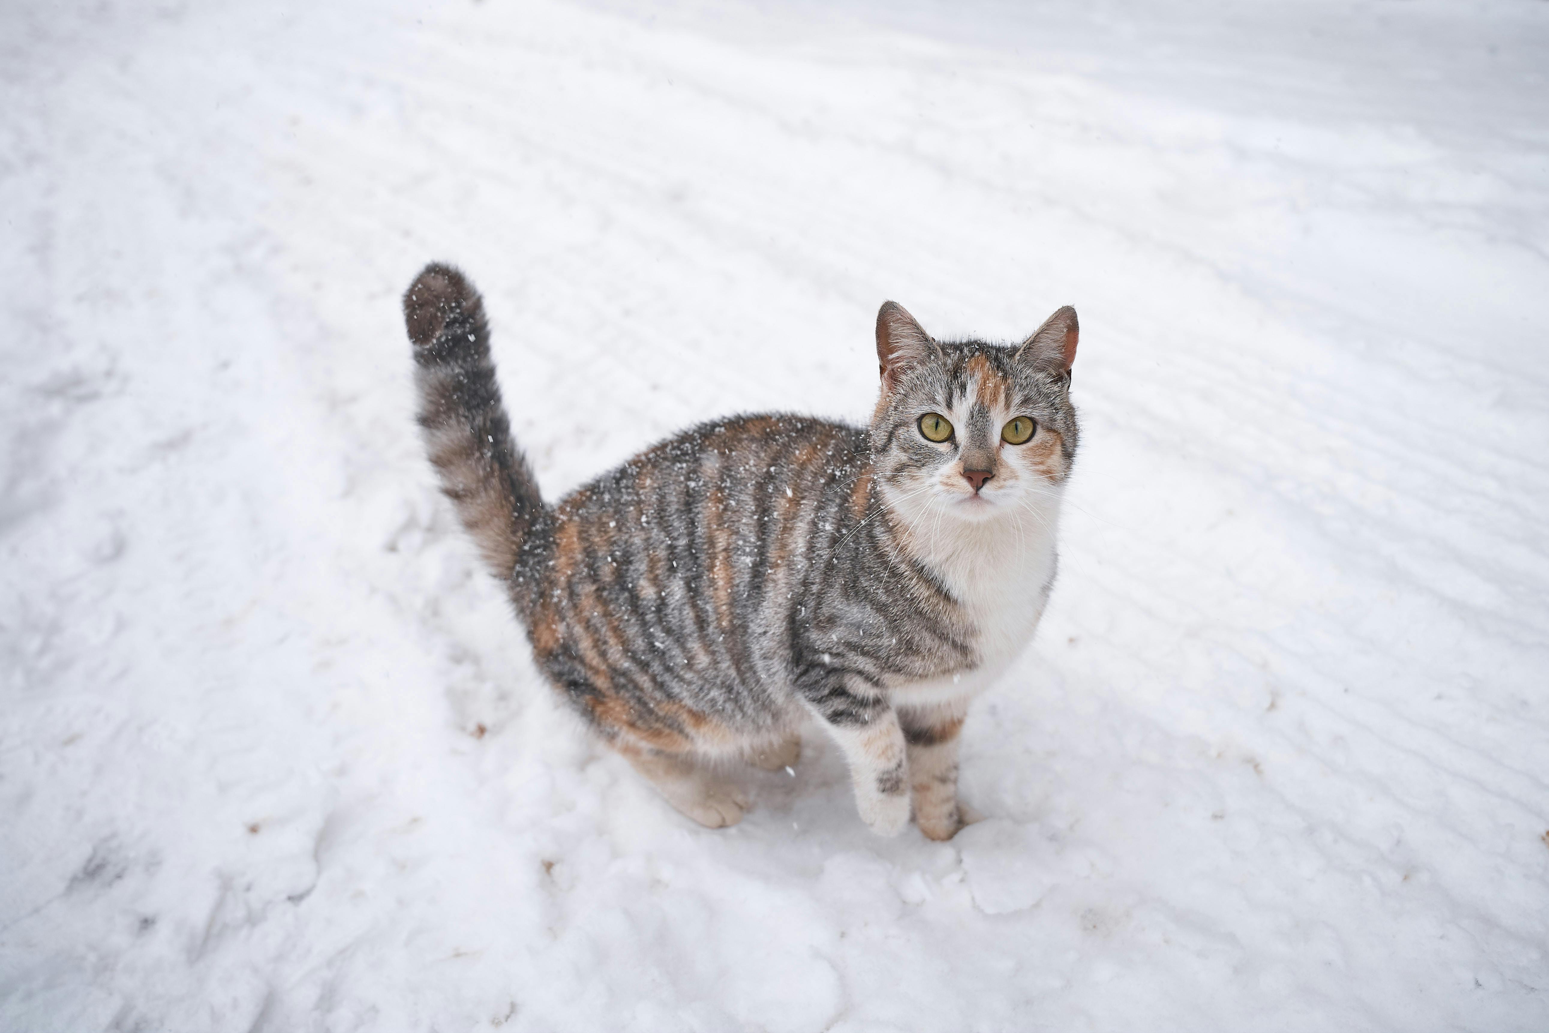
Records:
M441 491L494 575L510 581L547 510L500 404L483 299L459 269L432 262L404 291L403 317Z

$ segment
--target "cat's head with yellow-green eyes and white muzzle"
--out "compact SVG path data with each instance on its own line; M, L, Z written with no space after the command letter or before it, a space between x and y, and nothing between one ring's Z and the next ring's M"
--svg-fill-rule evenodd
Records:
M1058 497L1077 446L1077 335L1066 305L1021 344L943 342L884 304L871 440L891 500L977 522Z

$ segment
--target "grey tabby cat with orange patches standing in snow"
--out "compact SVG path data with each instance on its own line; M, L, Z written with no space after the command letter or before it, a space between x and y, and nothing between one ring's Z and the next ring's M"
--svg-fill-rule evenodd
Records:
M403 299L418 418L538 666L683 815L747 799L720 762L795 764L833 737L877 833L950 839L968 703L1033 637L1075 458L1077 314L1018 345L877 313L871 426L713 420L555 505L511 440L483 300L432 263Z

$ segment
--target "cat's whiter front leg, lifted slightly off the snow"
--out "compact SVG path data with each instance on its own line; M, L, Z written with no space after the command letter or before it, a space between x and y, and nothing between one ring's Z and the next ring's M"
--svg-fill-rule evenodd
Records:
M898 716L880 689L860 678L833 681L807 703L844 751L861 821L883 836L909 824L909 762Z

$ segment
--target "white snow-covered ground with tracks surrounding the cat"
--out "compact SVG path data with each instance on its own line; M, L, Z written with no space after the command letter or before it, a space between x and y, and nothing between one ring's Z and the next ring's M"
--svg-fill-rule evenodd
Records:
M0 9L0 1028L1549 1030L1549 6ZM541 686L398 294L550 496L1081 313L950 844L706 832Z

